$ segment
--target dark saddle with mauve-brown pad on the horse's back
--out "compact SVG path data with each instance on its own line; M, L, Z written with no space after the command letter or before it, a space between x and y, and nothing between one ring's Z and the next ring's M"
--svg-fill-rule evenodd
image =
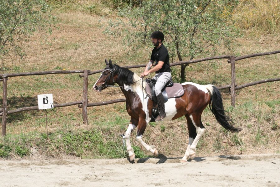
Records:
M155 84L156 79L146 79L146 93L147 96L153 101L153 108L152 108L152 117L150 122L154 122L158 117L158 108L157 108L157 100L155 94ZM183 86L180 83L173 83L172 77L166 83L166 85L161 90L161 93L164 98L164 103L168 101L169 98L178 98L184 95Z

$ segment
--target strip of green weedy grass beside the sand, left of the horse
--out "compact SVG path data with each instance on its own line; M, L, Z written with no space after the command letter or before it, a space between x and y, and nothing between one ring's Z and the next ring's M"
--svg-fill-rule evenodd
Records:
M81 158L124 158L126 151L121 144L121 139L113 133L108 136L109 130L90 129L76 132L63 132L58 130L50 133L49 138L45 133L21 134L19 136L6 136L1 141L0 154L8 158L10 152L19 157L30 157L30 148L35 148L48 157L71 155ZM104 135L107 136L104 136ZM7 150L7 147L9 148Z

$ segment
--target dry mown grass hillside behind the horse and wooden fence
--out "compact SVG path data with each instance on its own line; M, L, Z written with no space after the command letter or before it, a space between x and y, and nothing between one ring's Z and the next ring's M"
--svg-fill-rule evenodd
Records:
M30 36L30 40L24 44L27 56L23 60L6 60L4 62L5 68L1 73L100 70L105 67L105 58L112 59L120 66L147 63L152 46L140 51L129 51L122 45L120 38L103 34L103 27L107 24L110 16L103 17L61 10L55 10L53 14L57 17L57 23L53 27L52 34L48 35L45 31L35 32L34 35ZM256 32L255 35L252 32L245 33L242 38L237 39L234 50L228 51L221 48L217 55L234 54L240 56L279 49L279 33L266 34L260 31ZM175 61L178 60L175 59ZM139 74L142 70L139 68L132 71ZM173 68L173 71L180 72L179 67ZM280 75L279 72L279 54L240 60L236 62L236 84L277 78ZM89 77L88 98L90 103L124 98L119 88L108 88L102 93L94 92L92 86L98 77L99 74ZM227 85L231 82L231 68L226 60L191 64L186 68L186 80L198 84ZM79 78L78 74L9 78L7 86L8 110L36 106L37 94L44 93L53 93L55 103L81 100L82 82L83 79ZM224 131L212 117L211 112L206 110L203 113L203 123L207 132L198 144L198 155L279 153L279 85L279 82L272 82L236 91L236 108L230 107L230 93L223 90L225 108L234 118L236 126L243 130L238 134ZM102 145L109 141L118 142L121 145L118 135L125 132L130 119L124 103L88 108L88 125L82 124L82 109L77 106L54 108L54 110L48 110L47 115L49 132L54 135L55 142L59 136L67 135L68 132L71 132L73 136L73 134L82 135L85 131L98 129L97 131L102 135ZM61 132L64 134L62 135ZM0 148L8 144L8 141L13 140L20 142L22 148L26 147L27 152L30 148L38 150L40 156L59 157L67 154L82 158L114 157L105 154L104 156L94 152L93 149L88 149L87 145L90 144L90 141L82 141L83 144L80 145L80 148L69 148L69 152L63 151L61 142L64 141L64 137L59 139L57 145L52 141L45 140L44 133L45 112L30 111L8 115L7 137L2 139ZM134 141L135 132L131 139L133 144L138 146ZM152 123L148 125L143 139L148 144L156 145L165 156L183 156L188 142L186 120L182 117L171 122ZM73 141L75 140L71 139L68 143ZM36 142L44 142L48 146L42 146ZM95 143L91 144L94 146ZM19 154L14 152L12 156L19 157ZM29 153L26 155L32 157L30 151ZM144 153L147 154L145 151ZM125 156L125 153L122 156Z

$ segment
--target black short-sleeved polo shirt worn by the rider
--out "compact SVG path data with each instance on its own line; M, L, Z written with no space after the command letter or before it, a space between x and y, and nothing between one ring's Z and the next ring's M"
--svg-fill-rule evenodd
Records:
M162 68L160 70L156 71L156 73L171 71L170 65L169 65L168 50L166 49L166 47L163 44L161 44L161 46L159 48L155 47L152 50L151 60L156 61L156 65L158 64L158 61L164 62Z

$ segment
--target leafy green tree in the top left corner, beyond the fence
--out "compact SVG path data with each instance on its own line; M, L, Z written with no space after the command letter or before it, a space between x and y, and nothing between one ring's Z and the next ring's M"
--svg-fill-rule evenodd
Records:
M49 24L45 18L49 6L44 0L5 0L0 1L0 57L12 58L11 52L21 58L25 55L22 42L36 30Z

